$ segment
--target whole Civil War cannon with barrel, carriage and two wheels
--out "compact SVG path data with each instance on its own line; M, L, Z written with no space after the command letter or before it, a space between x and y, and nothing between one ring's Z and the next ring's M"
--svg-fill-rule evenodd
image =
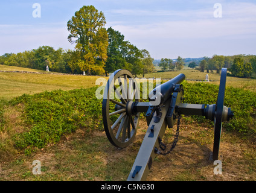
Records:
M216 104L184 103L184 74L156 86L149 92L149 102L140 102L140 87L132 73L119 69L112 73L107 81L102 103L104 130L110 143L118 148L130 145L136 135L139 117L146 113L147 132L139 148L127 180L146 180L153 160L158 154L168 154L178 142L181 115L199 115L214 121L214 142L211 160L219 158L220 134L222 122L234 116L231 109L223 106L225 97L227 69L222 68L219 93ZM177 121L173 145L164 152L162 143L165 129L173 128Z

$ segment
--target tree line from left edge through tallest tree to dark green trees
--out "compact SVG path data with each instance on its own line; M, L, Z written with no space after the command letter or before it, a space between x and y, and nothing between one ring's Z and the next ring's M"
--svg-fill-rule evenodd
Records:
M40 46L31 51L6 53L0 56L1 65L19 66L50 71L103 75L125 68L133 74L147 74L154 70L153 59L146 49L138 49L124 35L113 28L104 28L106 19L94 6L83 6L68 21L68 41L75 49L55 50Z

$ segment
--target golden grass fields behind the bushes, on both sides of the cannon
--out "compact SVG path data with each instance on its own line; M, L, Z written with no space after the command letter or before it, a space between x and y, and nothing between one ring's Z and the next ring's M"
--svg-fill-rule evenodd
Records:
M43 72L35 69L19 68L16 66L0 65L0 71L27 71L27 72ZM146 74L146 78L161 78L170 79L176 75L184 73L188 82L193 80L205 80L206 72L199 72L193 69L182 69L174 72L154 72ZM219 85L220 74L209 73L210 83ZM142 76L139 76L141 78ZM45 90L51 91L56 89L71 90L88 88L95 86L95 81L99 77L71 75L71 74L53 74L48 72L46 74L27 74L27 73L13 73L0 72L0 99L11 100L15 96L20 96L24 93L34 94L43 92ZM104 77L107 78L107 77ZM256 79L227 77L226 86L243 88L256 92Z

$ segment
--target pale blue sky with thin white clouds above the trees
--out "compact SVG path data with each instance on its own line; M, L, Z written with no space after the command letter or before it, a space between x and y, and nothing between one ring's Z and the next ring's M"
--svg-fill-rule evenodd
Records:
M103 11L106 28L153 59L256 54L255 0L1 0L0 55L43 45L74 49L67 22L83 5Z

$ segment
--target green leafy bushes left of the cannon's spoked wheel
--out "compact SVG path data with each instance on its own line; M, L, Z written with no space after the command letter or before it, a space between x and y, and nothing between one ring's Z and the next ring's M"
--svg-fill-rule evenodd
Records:
M12 105L24 104L22 116L31 125L29 131L16 134L16 147L43 148L77 128L101 129L101 100L95 97L96 89L54 90L11 100Z

